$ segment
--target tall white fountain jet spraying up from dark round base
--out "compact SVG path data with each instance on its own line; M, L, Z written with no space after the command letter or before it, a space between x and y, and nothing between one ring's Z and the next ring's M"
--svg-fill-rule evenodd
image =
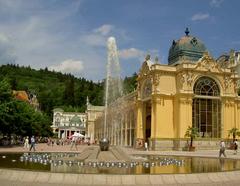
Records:
M109 139L107 135L107 107L115 101L122 93L122 82L120 78L120 65L118 59L117 45L114 37L109 37L107 41L108 59L107 75L105 82L105 112L104 112L104 131L103 138L100 140L100 149L107 151L109 148Z

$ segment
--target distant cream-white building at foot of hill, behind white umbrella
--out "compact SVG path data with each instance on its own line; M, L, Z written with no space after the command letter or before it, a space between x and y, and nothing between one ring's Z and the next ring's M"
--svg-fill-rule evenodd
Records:
M53 110L53 133L58 138L68 138L74 132L86 134L86 114L80 112L64 112L61 108Z

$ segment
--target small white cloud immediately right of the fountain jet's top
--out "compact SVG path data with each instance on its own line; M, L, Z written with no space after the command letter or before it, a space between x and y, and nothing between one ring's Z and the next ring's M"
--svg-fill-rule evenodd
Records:
M136 48L129 48L129 49L123 49L119 50L119 57L123 59L130 59L130 58L140 58L142 59L145 52L142 50L136 49Z

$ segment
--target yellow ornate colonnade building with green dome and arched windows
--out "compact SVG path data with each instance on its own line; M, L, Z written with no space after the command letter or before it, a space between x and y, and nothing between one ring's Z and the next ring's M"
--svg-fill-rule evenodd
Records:
M173 41L168 64L148 55L140 68L137 89L109 105L107 134L104 115L94 121L95 137L111 144L152 150L182 149L187 128L196 127L198 149L217 148L228 131L240 128L239 53L217 60L196 37Z

